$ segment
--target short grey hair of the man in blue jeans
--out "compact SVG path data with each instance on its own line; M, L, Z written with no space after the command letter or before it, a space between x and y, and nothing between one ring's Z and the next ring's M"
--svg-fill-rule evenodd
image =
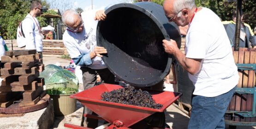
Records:
M176 14L183 9L192 9L193 7L196 7L195 0L175 0L173 2L173 9Z

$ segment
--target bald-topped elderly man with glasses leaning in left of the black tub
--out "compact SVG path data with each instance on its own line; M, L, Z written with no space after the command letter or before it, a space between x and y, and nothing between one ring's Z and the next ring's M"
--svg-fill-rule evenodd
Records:
M96 14L96 16L95 16ZM82 12L81 16L72 9L66 10L62 15L62 21L67 26L63 34L63 42L76 65L81 66L83 73L83 88L88 89L96 85L96 74L104 83L114 84L115 77L107 69L101 59L107 50L98 47L96 43L97 20L104 20L104 10ZM89 111L85 110L85 113ZM97 121L87 118L87 127L96 128Z

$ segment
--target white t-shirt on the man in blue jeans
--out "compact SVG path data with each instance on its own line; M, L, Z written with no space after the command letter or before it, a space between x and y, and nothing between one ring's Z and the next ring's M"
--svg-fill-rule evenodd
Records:
M202 59L201 70L189 78L195 95L215 97L238 84L238 68L220 18L210 9L196 12L186 35L187 58Z

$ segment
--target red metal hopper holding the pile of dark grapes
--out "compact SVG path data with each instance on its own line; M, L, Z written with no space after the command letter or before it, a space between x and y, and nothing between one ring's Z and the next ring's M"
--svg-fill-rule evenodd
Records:
M102 101L101 94L110 92L114 89L123 88L119 85L101 84L93 88L84 90L83 92L73 94L70 97L80 101L84 106L94 111L107 122L116 127L127 128L142 119L149 117L155 112L163 112L175 100L179 98L181 93L174 93L169 91L158 91L151 89L144 89L149 91L155 103L163 105L161 109L152 109L141 106L125 105L113 102Z

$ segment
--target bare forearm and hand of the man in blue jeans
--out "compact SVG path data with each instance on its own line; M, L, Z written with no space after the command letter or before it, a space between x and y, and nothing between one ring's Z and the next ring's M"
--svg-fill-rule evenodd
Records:
M176 41L163 40L163 46L165 48L165 52L168 54L173 54L173 56L178 60L179 64L191 75L195 75L201 69L202 59L186 58L185 54L183 54L177 47Z

